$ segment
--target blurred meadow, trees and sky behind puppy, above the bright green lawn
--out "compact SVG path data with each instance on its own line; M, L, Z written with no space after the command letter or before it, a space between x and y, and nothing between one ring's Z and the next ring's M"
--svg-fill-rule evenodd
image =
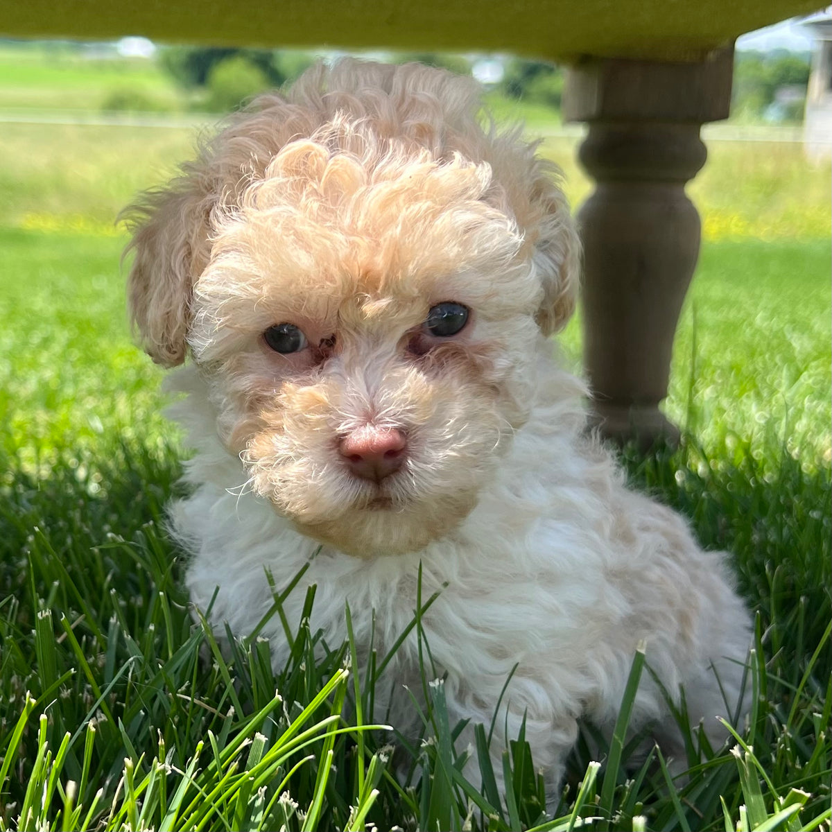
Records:
M749 145L763 142L762 155L782 170L767 206L746 202L748 210L731 212L725 196L702 199L707 180L714 178L706 166L691 186L700 197L706 238L829 230L829 210L812 214L814 203L811 210L796 210L784 204L788 196L782 188L790 176L796 191L808 187L803 201L811 201L812 186L798 185L794 177L805 179L812 171L825 176L832 121L825 141L822 134L820 144L804 141L807 111L811 119L821 109L811 101L807 105L807 88L813 51L819 53L822 44L810 26L794 23L740 38L730 121L706 126L704 135L712 160L723 152L715 142L740 143L755 158L761 154ZM141 37L109 43L0 40L0 225L115 234L118 210L136 191L170 176L176 162L190 154L199 131L315 60L338 54L162 46ZM498 118L521 119L531 135L546 140L547 152L567 173L572 200L586 196L589 183L574 161L582 127L562 124L561 67L503 55L374 52L367 57L418 60L477 77ZM815 63L820 64L817 57ZM828 67L815 72L828 74ZM829 101L825 108L830 110Z

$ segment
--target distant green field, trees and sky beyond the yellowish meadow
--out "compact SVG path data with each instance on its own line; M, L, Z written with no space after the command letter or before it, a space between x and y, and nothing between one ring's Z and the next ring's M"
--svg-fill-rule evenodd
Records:
M740 38L731 121L800 125L810 77L813 32L780 24ZM161 46L143 37L103 43L0 40L0 108L183 116L222 113L290 81L338 52ZM373 52L385 61L421 61L470 73L499 106L522 102L533 121L557 123L563 71L503 55ZM23 112L21 112L23 115Z

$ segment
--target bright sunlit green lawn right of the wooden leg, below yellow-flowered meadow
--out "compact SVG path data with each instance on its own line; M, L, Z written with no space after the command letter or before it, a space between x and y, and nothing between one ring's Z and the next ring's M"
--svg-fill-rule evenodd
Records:
M830 463L830 271L828 240L704 245L666 410L709 451L770 435L807 468Z

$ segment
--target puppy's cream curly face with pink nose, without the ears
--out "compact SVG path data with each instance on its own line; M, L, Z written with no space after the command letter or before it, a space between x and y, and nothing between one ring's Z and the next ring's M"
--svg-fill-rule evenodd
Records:
M177 314L250 488L344 552L414 551L527 418L539 248L483 161L334 144L287 142L210 207Z

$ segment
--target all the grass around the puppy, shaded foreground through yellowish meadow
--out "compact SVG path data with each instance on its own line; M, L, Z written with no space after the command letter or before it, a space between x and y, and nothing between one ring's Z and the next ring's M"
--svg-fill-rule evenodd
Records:
M634 483L735 558L756 614L739 751L673 783L658 752L625 766L630 746L613 744L599 770L582 744L548 820L522 742L508 800L464 783L441 687L434 739L393 765L362 709L340 716L370 695L343 670L349 645L314 661L301 626L275 675L262 641L229 659L193 623L164 532L186 451L131 342L113 225L192 143L177 129L0 135L0 830L829 830L829 164L799 146L711 146L690 188L706 239L666 401L685 443L626 456ZM544 149L580 201L574 141ZM579 329L564 335L572 361Z

